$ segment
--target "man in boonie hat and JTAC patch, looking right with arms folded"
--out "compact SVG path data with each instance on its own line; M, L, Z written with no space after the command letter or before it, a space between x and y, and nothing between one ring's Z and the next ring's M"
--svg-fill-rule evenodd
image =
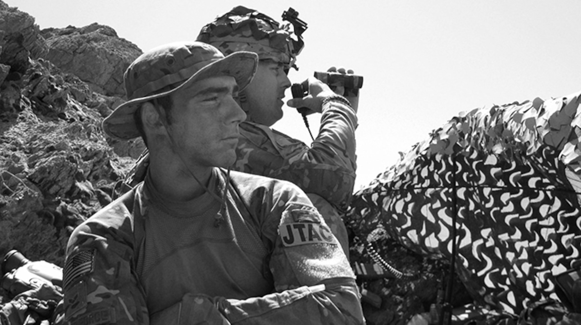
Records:
M129 100L103 129L146 134L149 168L71 234L65 323L364 322L349 261L306 194L227 169L257 60L182 42L127 69Z

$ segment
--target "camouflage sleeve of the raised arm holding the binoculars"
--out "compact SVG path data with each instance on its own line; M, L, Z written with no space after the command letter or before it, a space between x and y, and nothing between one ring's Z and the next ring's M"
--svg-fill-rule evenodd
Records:
M356 126L355 111L338 95L324 101L320 130L311 147L266 126L244 122L234 168L290 181L344 212L355 184Z

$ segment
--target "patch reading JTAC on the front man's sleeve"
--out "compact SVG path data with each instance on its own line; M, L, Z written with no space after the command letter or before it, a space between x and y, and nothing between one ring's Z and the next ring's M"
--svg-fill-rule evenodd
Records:
M331 229L324 224L314 222L293 222L280 225L282 243L285 246L297 246L304 244L327 243L338 244Z

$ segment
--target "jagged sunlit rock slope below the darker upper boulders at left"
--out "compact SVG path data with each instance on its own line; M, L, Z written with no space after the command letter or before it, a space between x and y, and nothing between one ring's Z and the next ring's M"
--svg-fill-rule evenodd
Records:
M45 59L30 59L26 70L5 78L0 255L17 249L31 260L63 266L71 231L110 202L113 191L103 188L113 189L134 161L114 153L101 129L102 115L91 107L122 102L93 92Z

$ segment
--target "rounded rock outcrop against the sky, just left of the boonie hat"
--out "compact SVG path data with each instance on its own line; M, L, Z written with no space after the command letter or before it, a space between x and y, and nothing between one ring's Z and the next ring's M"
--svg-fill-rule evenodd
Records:
M41 34L49 46L45 59L76 75L94 92L125 95L123 73L142 51L119 38L113 28L94 23L82 28L49 28Z

